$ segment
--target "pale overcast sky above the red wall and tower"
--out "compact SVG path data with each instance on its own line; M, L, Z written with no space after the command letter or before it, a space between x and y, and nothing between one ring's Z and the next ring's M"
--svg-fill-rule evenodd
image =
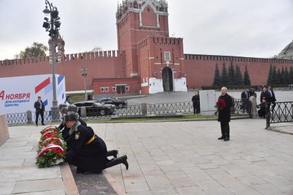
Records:
M117 50L117 0L51 0L65 53ZM121 1L121 0L120 0ZM48 42L43 0L0 0L0 60L34 41ZM273 57L293 39L293 0L168 0L170 36L187 54Z

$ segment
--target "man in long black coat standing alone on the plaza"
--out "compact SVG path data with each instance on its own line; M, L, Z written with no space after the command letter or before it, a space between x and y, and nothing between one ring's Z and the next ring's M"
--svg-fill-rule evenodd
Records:
M232 107L232 97L227 94L227 88L221 88L221 96L219 100L223 99L226 103L225 107L219 108L218 121L221 122L221 133L222 136L218 139L223 139L224 141L230 140L230 119L231 119L231 107Z

